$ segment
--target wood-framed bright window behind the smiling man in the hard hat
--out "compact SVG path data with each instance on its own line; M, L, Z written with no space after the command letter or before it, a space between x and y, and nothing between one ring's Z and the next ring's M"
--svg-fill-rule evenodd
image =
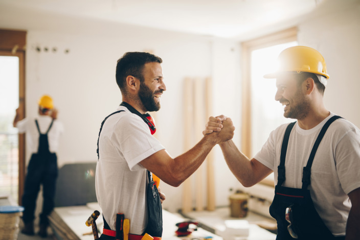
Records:
M292 122L283 116L283 106L275 101L275 79L263 75L276 70L280 52L298 45L297 29L292 28L259 39L244 42L241 151L249 158L261 149L271 131ZM263 183L274 185L273 175Z

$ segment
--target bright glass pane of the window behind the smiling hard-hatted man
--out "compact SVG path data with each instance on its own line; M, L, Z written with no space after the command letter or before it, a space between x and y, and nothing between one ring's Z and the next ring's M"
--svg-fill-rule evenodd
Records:
M263 76L277 69L277 58L281 51L298 45L297 41L254 50L251 54L251 114L252 155L254 156L267 140L271 131L294 119L284 117L284 107L275 101L276 80Z

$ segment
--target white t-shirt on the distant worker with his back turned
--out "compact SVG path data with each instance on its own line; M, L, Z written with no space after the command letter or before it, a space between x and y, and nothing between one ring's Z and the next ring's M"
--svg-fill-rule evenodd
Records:
M52 118L48 115L39 115L38 117L26 117L16 124L19 133L26 133L26 145L31 153L37 153L39 148L39 131L37 130L35 119L39 124L40 132L48 131ZM57 119L54 120L53 126L48 133L49 150L56 153L59 148L59 138L64 131L64 127Z

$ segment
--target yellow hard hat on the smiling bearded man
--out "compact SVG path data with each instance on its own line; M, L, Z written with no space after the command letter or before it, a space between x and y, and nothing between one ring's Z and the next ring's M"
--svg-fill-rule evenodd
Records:
M275 73L266 74L264 78L276 78L287 71L319 74L329 79L324 57L308 46L292 46L282 51L278 57L279 68Z

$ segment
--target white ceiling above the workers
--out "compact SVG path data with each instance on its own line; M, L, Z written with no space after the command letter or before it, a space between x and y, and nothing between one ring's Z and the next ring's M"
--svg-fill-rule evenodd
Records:
M32 11L239 38L294 22L327 0L0 0Z

